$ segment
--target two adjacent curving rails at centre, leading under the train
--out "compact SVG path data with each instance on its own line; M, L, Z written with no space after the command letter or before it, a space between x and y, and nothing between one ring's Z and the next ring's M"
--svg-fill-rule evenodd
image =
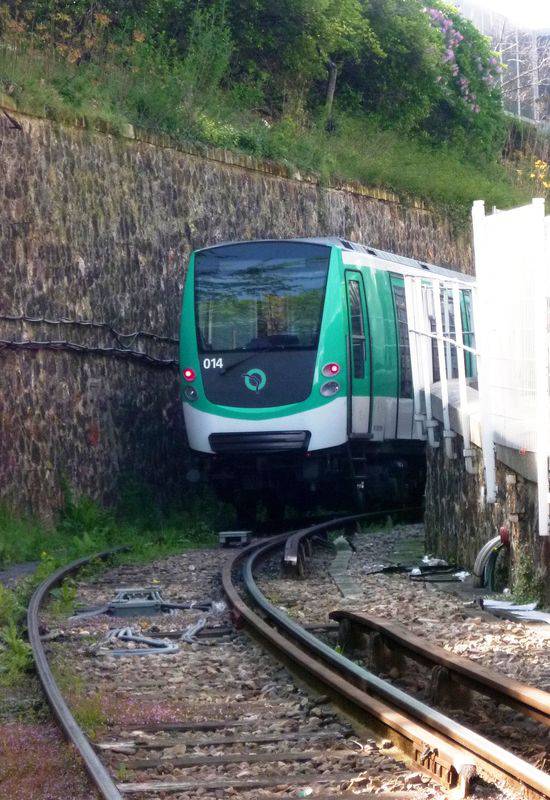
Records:
M327 530L329 527L334 528L341 524L341 520L335 520L333 524L325 523L322 527ZM316 526L308 530L309 535L317 532ZM420 740L428 744L432 750L437 749L445 760L450 761L458 774L461 772L464 774L463 768L472 763L482 769L486 769L487 766L493 769L496 767L501 774L504 773L522 783L539 796L550 797L550 775L336 653L293 622L283 611L273 606L258 589L253 577L253 568L260 558L264 558L283 541L284 536L279 536L260 547L252 545L245 548L224 567L222 581L228 599L252 628L315 677L351 699L389 728L404 735L409 741ZM243 559L246 559L243 575L247 592L263 614L291 636L293 642L289 642L288 638L278 630L274 630L272 625L252 611L240 597L232 582L232 570L235 564ZM321 664L320 660L325 663ZM371 694L367 694L363 689ZM396 707L405 711L409 717L396 712ZM415 722L411 721L411 717ZM422 727L418 722L422 723ZM427 727L423 727L424 725Z

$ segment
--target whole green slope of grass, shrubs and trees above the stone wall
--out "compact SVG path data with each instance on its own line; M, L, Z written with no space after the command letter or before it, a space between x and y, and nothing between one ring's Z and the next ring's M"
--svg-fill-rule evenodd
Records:
M527 196L498 164L500 64L440 0L11 0L0 37L0 91L50 116L371 173L462 215Z

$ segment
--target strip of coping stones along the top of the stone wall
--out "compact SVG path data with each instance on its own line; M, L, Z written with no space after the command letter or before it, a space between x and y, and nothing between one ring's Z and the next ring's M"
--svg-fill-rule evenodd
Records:
M47 115L40 115L24 107L18 108L13 97L1 92L0 110L9 111L10 113L15 112L16 118L30 117L34 119L49 120L50 122L54 122L62 126L65 125L68 127L82 128L99 134L110 135L122 139L131 139L136 142L144 142L146 144L153 145L154 147L176 150L209 161L217 161L228 166L246 169L251 172L262 172L267 175L284 178L285 180L294 180L298 183L311 183L315 186L319 186L322 182L320 176L316 175L315 173L302 174L295 169L285 166L284 164L278 164L275 161L255 158L254 156L250 156L245 153L239 153L235 150L211 147L210 145L206 144L176 142L166 134L151 133L142 129L136 129L130 123L124 124L122 130L120 130L115 125L111 125L106 121L98 120L94 128L89 128L86 120L83 117L77 116L76 114L67 114L63 120L48 117ZM430 214L434 213L434 209L431 209L421 200L410 198L406 203L404 203L394 192L378 187L366 186L358 181L332 179L325 185L327 189L361 195L363 197L371 197L374 200L379 200L383 203L393 203L396 205L414 208L417 211L425 211Z

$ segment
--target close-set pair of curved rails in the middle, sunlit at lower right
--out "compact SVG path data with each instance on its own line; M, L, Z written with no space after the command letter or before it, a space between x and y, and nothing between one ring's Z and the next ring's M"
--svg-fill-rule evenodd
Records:
M329 529L328 526L327 523L323 527ZM341 526L342 520L335 520L330 527ZM316 532L315 527L307 529L309 535ZM375 724L381 723L389 738L398 742L400 749L411 756L418 767L446 788L454 787L455 796L466 796L470 792L477 768L493 777L506 775L516 787L527 788L531 796L550 797L547 773L336 653L269 603L254 582L253 568L259 559L282 546L284 541L285 536L281 535L260 547L251 545L236 553L224 566L223 587L238 618L276 648L283 658L290 659L338 696L350 701ZM233 581L234 569L240 562L244 562L246 590L263 616L249 607ZM284 634L276 628L282 629Z

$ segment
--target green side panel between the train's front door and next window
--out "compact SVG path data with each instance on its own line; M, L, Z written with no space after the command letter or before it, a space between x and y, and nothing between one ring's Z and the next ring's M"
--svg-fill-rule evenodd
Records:
M372 352L373 397L397 397L398 358L395 310L390 275L362 267L365 281Z

